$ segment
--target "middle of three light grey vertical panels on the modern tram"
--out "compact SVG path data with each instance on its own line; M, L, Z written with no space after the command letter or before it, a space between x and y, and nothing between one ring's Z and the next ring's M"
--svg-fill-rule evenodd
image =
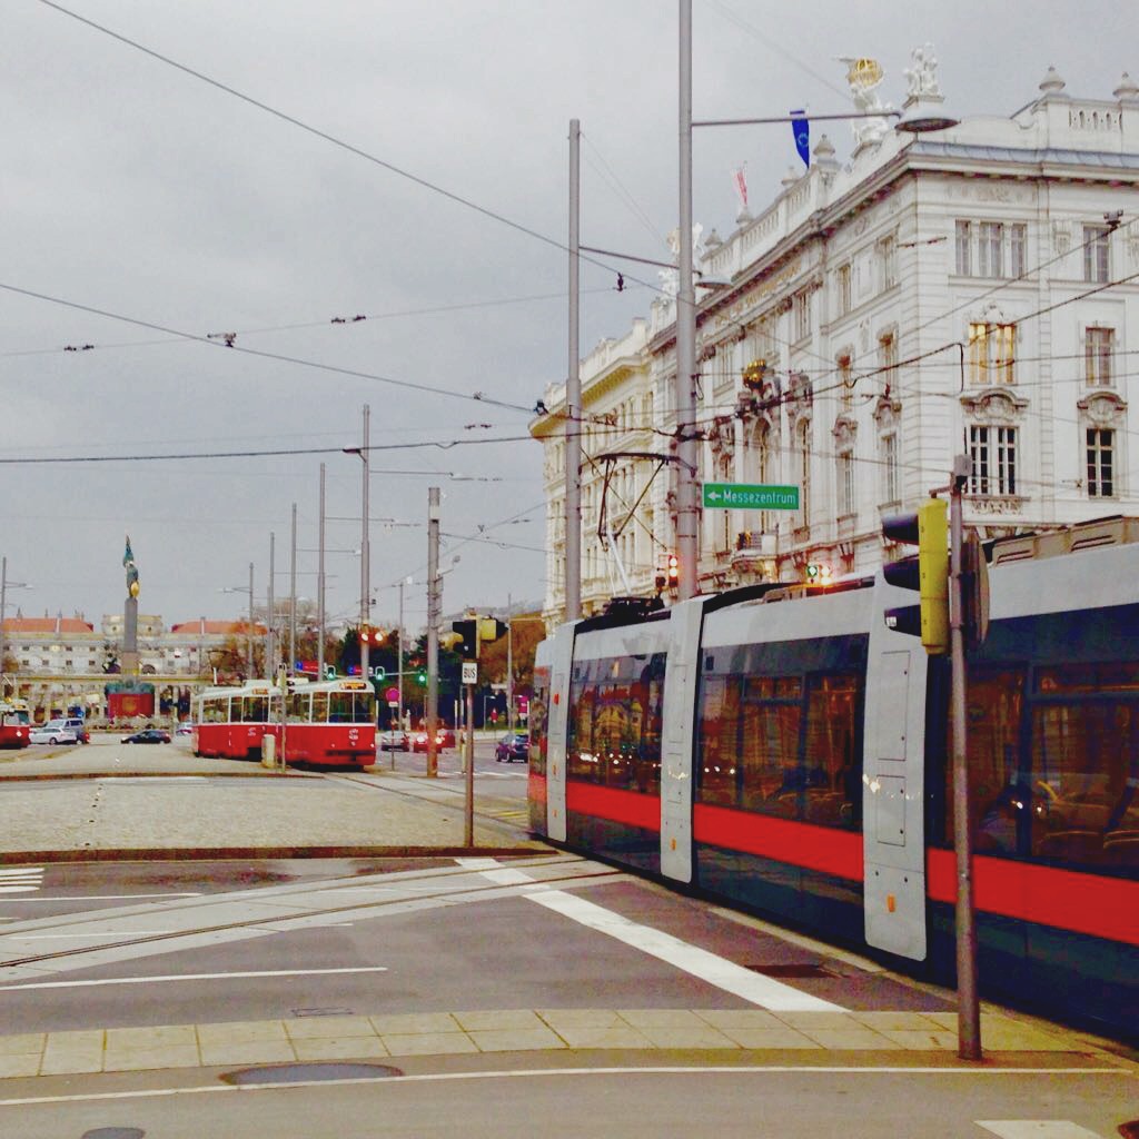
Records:
M703 598L672 607L661 744L661 872L693 880L693 740Z

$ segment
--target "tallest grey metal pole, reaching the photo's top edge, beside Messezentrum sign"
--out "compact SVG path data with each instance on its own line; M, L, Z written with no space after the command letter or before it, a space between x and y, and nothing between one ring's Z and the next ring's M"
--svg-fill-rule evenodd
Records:
M680 0L680 244L677 287L677 597L696 596L696 294L693 286L693 0Z

